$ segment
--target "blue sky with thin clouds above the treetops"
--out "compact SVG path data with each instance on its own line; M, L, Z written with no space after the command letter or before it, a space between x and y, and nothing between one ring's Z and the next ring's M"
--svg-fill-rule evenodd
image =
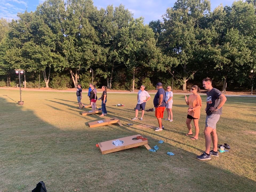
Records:
M0 18L7 20L17 19L17 13L24 11L35 11L37 6L45 0L0 0ZM234 0L210 0L211 10L220 5L232 5ZM126 9L129 9L135 18L140 16L145 18L148 24L152 20L161 19L167 7L173 7L175 0L94 0L94 6L100 9L106 8L107 5L113 4L118 6L121 3Z

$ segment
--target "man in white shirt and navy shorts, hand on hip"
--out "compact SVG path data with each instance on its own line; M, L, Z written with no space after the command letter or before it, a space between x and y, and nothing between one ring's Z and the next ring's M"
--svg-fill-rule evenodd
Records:
M142 110L140 120L141 121L143 120L143 115L145 113L146 102L149 99L150 99L149 93L147 91L145 91L145 86L141 85L140 90L139 90L138 95L137 95L138 103L137 103L136 108L135 108L135 117L132 120L138 120L138 113L139 113L140 109Z

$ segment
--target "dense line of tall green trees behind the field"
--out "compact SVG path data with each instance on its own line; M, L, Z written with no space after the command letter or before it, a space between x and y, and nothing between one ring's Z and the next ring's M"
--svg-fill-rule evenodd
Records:
M205 77L223 90L248 89L256 74L256 0L213 12L209 0L179 0L149 25L122 4L98 10L91 0L47 0L17 16L0 22L7 85L14 69L25 70L25 87L40 74L46 87L87 86L93 71L94 84L131 90L173 79L186 90Z

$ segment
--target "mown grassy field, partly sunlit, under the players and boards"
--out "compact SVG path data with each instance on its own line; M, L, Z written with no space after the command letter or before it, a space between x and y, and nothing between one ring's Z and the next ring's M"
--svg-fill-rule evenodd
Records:
M151 97L146 109L153 107ZM39 181L49 192L255 191L256 98L227 98L217 133L218 143L228 143L231 150L203 162L196 156L205 149L205 96L196 141L185 136L184 95L174 95L174 121L163 121L161 132L154 131L154 112L145 111L143 121L131 120L136 99L136 94L109 93L104 118L118 117L124 126L89 128L88 122L102 118L82 116L80 112L89 109L77 109L75 93L23 91L25 103L19 106L19 91L0 90L0 191L31 191ZM89 103L87 97L82 101ZM135 134L147 137L159 150L153 153L140 146L102 155L95 147ZM159 139L164 143L157 143ZM168 156L168 151L175 155Z

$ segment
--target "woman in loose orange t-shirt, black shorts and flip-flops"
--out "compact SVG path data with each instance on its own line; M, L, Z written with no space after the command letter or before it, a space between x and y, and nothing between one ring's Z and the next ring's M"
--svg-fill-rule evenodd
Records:
M200 95L198 94L200 91L200 88L197 85L192 86L191 88L191 95L189 95L189 99L187 100L187 96L185 95L185 101L187 105L189 106L189 109L187 110L187 129L189 129L189 132L186 134L193 135L192 133L192 127L191 127L191 121L193 119L194 126L195 126L195 136L192 137L192 140L198 139L199 134L199 126L198 126L198 120L200 118L200 110L202 106L202 99Z

